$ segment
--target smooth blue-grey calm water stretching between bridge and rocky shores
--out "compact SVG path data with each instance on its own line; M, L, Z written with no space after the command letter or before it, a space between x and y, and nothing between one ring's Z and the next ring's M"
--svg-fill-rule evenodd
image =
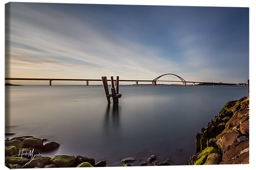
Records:
M173 165L195 153L195 137L247 86L120 86L118 106L108 107L102 86L6 86L6 132L60 143L59 154L85 155L109 166L155 154Z

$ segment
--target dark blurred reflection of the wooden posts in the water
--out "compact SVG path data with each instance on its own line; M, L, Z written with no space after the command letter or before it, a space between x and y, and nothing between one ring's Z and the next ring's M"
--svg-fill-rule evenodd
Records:
M111 119L110 119L110 107L111 107L110 104L108 104L106 106L104 128L106 130L108 130L110 124L112 124L114 128L118 129L119 128L119 107L120 106L118 105L118 103L113 103Z

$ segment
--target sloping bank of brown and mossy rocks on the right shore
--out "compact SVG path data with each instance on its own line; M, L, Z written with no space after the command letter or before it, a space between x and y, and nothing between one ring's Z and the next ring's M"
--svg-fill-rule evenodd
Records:
M249 96L228 102L196 135L188 165L249 163Z

